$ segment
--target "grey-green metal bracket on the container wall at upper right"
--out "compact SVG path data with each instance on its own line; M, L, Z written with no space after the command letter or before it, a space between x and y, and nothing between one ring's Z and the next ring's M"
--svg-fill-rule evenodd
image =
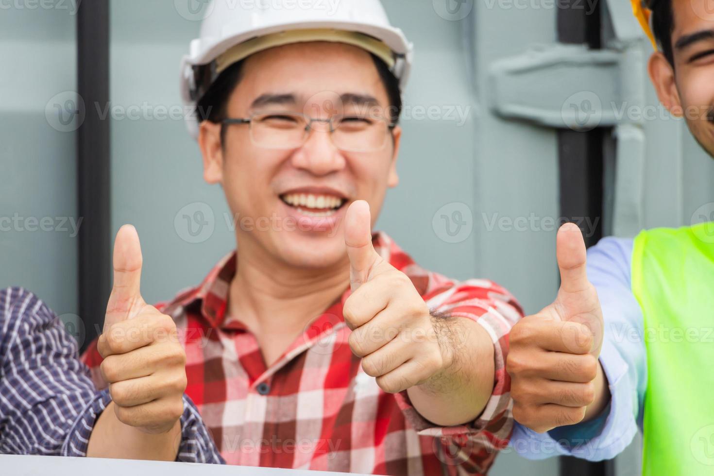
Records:
M613 233L635 236L643 227L645 54L631 24L620 19L612 25L623 36L608 49L555 44L496 61L489 70L489 106L501 118L538 126L614 128Z

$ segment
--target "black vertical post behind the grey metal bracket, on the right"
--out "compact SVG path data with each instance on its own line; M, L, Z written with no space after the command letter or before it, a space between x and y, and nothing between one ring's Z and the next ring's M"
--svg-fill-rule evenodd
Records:
M601 47L600 4L588 11L584 2L566 0L558 2L558 41L565 44L587 44L591 49ZM590 218L597 223L594 229L586 227L585 244L594 245L603 233L603 164L604 134L607 129L578 132L558 131L558 156L560 162L560 213L570 220ZM597 221L596 221L597 220ZM611 461L588 462L573 457L560 458L561 476L612 476Z

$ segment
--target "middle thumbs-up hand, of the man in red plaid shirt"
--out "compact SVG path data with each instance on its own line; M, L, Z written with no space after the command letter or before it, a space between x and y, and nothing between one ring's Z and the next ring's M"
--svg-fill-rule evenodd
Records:
M407 275L372 246L368 203L356 201L345 218L352 294L343 315L352 330L349 345L382 390L398 393L448 367L428 306Z

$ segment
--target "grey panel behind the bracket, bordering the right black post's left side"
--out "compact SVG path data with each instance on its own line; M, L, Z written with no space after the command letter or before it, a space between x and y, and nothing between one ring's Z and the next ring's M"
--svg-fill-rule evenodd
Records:
M477 1L472 14L474 86L476 101L484 105L490 102L486 86L493 62L521 54L532 44L555 41L555 10L493 5ZM480 111L473 158L476 270L506 286L526 313L535 313L558 291L555 227L550 226L559 216L556 134ZM497 221L493 226L495 217L501 225ZM498 455L491 474L557 475L558 460L528 461L508 449Z

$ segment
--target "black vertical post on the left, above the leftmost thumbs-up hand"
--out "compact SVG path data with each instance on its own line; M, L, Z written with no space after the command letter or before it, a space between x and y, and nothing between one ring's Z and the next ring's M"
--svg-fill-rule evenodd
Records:
M109 0L83 1L77 15L77 88L86 116L77 136L79 316L83 349L101 331L111 290L109 121ZM101 105L96 108L95 105Z

